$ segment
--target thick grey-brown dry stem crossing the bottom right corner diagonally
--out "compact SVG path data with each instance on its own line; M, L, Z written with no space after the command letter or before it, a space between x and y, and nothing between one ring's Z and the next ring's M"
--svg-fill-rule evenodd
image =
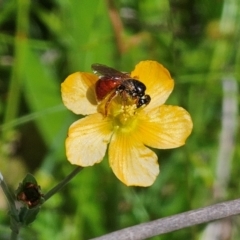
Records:
M240 199L218 203L170 217L124 228L92 240L148 239L163 233L240 214Z

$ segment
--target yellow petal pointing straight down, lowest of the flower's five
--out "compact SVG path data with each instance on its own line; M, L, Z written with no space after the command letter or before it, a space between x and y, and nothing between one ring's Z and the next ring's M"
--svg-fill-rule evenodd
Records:
M157 155L133 135L117 132L109 146L114 174L127 186L150 186L159 174Z

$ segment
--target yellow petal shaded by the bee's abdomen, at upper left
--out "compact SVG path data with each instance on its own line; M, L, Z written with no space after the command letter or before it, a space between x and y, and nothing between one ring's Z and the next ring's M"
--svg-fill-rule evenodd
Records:
M95 113L97 102L94 84L98 77L91 73L76 72L61 84L64 105L76 114Z

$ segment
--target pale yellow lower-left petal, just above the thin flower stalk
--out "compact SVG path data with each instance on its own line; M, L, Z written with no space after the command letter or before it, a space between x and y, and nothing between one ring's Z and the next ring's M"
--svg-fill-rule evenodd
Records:
M83 167L100 162L112 134L111 126L108 118L99 113L74 122L66 139L68 160Z

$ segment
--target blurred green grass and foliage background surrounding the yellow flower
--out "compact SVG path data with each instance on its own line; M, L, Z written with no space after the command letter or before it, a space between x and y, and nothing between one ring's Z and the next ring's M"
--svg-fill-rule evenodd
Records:
M239 0L1 0L0 170L12 190L27 172L47 192L73 169L60 83L102 63L131 71L141 60L169 69L167 104L187 109L185 146L156 151L161 174L149 188L126 187L107 158L47 201L22 239L75 240L239 197ZM239 239L240 218L221 222ZM207 225L152 239L206 238ZM0 239L9 218L0 191Z

